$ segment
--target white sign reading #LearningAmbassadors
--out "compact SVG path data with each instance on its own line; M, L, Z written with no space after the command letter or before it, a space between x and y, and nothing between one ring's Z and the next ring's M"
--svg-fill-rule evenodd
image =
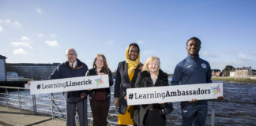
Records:
M163 102L183 102L192 98L215 99L223 96L223 83L201 83L163 87L128 88L127 104L142 105Z

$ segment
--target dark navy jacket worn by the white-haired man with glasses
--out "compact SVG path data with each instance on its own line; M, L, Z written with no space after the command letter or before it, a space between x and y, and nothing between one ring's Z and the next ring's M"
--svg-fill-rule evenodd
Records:
M85 63L81 62L77 59L77 65L73 69L70 66L70 62L66 61L62 63L61 65L58 65L57 69L55 69L54 72L52 72L49 79L63 79L63 78L70 78L70 77L77 77L77 76L85 76L85 73L87 72L88 67L85 65ZM88 91L67 91L64 93L66 102L81 102L84 99L80 98L80 95L82 92L85 92L88 94Z

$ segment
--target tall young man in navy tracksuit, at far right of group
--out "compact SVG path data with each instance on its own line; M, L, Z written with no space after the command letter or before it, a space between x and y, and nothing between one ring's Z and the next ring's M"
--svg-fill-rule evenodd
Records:
M176 65L171 85L212 83L212 72L209 62L199 57L200 49L200 39L192 37L187 40L186 51L188 56ZM193 121L195 126L205 125L208 112L207 100L198 101L194 98L189 102L181 102L180 105L183 126L191 126Z

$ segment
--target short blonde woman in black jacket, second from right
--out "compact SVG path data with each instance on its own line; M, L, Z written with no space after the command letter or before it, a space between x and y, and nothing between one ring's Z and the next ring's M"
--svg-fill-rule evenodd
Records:
M168 86L168 75L160 69L159 57L149 57L138 73L135 87ZM164 103L136 106L134 121L139 126L164 126L165 115L160 113Z

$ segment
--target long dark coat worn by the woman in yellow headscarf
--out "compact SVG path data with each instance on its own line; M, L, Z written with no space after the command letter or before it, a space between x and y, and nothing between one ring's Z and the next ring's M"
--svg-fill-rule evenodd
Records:
M129 87L134 88L134 83L137 79L137 73L141 70L138 69L140 65L137 66L134 72L134 77L132 81L130 81L128 76L128 65L126 61L119 62L119 67L116 70L115 77L115 92L114 98L119 98L119 113L126 113L127 109L127 101L124 98L126 96L126 89Z

